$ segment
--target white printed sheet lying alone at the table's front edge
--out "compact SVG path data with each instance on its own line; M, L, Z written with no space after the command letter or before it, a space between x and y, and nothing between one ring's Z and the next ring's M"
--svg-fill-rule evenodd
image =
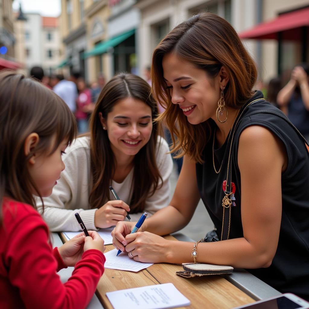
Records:
M191 304L172 283L108 292L106 296L114 309L163 309Z

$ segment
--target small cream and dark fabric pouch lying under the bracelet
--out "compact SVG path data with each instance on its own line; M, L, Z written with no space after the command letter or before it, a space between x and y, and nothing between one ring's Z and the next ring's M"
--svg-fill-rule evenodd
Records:
M234 269L232 266L202 263L182 263L182 267L184 268L184 271L177 271L176 274L185 278L232 273Z

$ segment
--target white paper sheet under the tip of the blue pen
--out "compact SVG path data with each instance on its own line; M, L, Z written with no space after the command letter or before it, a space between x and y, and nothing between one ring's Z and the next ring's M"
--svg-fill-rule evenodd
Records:
M114 249L104 253L106 258L104 268L138 272L139 270L147 268L153 264L134 261L133 259L129 258L127 252L121 252L117 256L117 252L118 249Z

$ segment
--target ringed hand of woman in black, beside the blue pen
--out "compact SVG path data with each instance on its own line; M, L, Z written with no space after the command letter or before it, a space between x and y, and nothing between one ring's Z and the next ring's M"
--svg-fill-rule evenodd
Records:
M125 237L125 251L131 252L135 261L143 263L168 262L171 241L149 232L129 234ZM129 257L132 258L129 253Z

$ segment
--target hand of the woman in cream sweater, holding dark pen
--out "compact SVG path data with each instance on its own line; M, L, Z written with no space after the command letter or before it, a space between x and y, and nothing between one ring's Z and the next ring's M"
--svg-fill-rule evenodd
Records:
M130 211L130 207L124 201L108 201L95 212L95 226L107 228L123 221Z

